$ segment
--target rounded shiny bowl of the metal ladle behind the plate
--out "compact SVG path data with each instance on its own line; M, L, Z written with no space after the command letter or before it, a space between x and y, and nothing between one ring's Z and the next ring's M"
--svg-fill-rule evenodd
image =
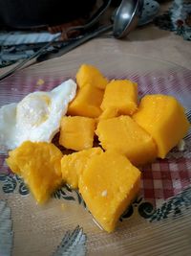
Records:
M122 0L114 19L113 35L116 38L125 37L136 28L142 7L143 0Z

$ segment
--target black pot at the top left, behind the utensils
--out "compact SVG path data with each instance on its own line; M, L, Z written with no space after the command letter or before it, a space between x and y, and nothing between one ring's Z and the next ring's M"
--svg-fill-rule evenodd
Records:
M96 0L0 0L0 23L27 29L70 22L88 14Z

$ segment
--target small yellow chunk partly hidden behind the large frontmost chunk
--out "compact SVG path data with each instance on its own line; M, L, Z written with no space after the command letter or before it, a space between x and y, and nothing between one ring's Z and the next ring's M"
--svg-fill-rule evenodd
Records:
M61 159L61 172L63 180L73 189L78 188L79 176L86 168L87 162L96 154L103 151L101 148L78 151L64 155Z

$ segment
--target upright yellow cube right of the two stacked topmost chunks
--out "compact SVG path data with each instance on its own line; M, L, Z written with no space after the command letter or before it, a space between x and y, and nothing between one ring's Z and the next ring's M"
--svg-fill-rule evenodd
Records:
M128 80L116 80L107 84L102 110L117 108L118 113L132 115L138 108L138 84Z

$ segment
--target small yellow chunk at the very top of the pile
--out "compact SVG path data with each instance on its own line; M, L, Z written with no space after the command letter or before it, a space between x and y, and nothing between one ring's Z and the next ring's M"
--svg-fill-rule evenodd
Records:
M105 89L108 80L103 77L95 66L82 64L76 73L76 82L80 88L89 83L99 89Z

